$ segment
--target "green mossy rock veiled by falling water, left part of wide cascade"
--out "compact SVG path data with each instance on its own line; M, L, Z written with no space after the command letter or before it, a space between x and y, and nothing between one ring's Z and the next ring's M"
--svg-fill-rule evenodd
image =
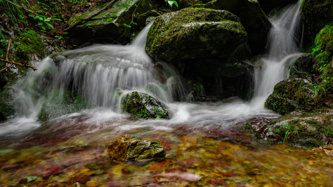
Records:
M52 91L45 94L45 102L40 110L39 119L47 121L85 109L86 102L82 95L70 91Z

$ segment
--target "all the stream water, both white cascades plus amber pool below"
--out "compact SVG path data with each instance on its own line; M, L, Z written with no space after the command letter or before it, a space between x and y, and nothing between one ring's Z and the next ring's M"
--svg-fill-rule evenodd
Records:
M180 181L167 182L172 182L169 186L174 183L178 187L183 186L184 181L187 185L196 182L198 173L210 175L209 180L215 182L207 183L213 186L237 186L247 184L251 179L254 186L259 185L259 181L274 186L280 185L272 182L275 177L284 177L283 180L290 182L294 175L299 182L306 178L327 184L327 176L332 176L333 172L327 171L322 163L331 163L325 155L314 156L312 152L285 145L262 148L252 136L239 130L240 125L252 117L280 116L264 109L263 104L274 85L288 78L290 65L301 55L298 52L303 32L299 12L301 1L285 7L270 19L273 27L268 36L267 54L255 63L255 93L248 102L192 102L191 93L177 71L146 54L146 37L151 24L130 45L93 45L34 62L38 70L28 73L14 86L16 117L0 124L0 148L3 148L0 149L0 168L21 163L15 165L19 170L0 170L0 183L10 183L25 175L44 176L51 170L58 176L52 175L48 180L59 184L59 181L71 179L73 173L93 170L89 180L121 187L166 180L163 172L156 175L164 168L177 170L175 175ZM162 70L158 70L160 66ZM52 79L46 76L49 74ZM155 91L149 91L148 85ZM63 96L69 88L83 95L88 109L40 122L38 117L46 95ZM143 120L123 113L116 98L119 90L123 95L136 90L154 96L166 105L170 119ZM166 161L137 164L108 160L104 149L124 134L163 142L167 150ZM35 162L26 165L26 159ZM290 163L288 159L294 162ZM307 159L317 164L305 166ZM40 160L47 160L47 166ZM285 174L286 171L291 174ZM317 175L311 178L306 172ZM272 175L275 177L268 179ZM216 177L223 180L215 180Z

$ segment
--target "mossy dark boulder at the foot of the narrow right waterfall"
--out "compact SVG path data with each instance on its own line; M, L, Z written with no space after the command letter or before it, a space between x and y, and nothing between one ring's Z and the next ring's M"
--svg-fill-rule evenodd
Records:
M311 111L320 107L324 91L318 90L319 94L315 98L314 88L305 85L313 84L309 80L300 78L287 79L277 83L273 93L265 102L265 108L284 115L296 109Z

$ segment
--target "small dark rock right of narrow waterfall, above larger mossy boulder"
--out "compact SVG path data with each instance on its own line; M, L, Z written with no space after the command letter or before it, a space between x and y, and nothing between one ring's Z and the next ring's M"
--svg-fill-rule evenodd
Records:
M312 75L316 72L313 66L317 63L317 60L312 54L303 54L297 58L291 66L289 78L303 78L312 80Z

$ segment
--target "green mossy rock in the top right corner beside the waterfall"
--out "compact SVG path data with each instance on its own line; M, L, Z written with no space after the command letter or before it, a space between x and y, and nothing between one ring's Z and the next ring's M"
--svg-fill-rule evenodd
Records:
M333 0L303 0L301 14L306 28L316 34L333 23Z

